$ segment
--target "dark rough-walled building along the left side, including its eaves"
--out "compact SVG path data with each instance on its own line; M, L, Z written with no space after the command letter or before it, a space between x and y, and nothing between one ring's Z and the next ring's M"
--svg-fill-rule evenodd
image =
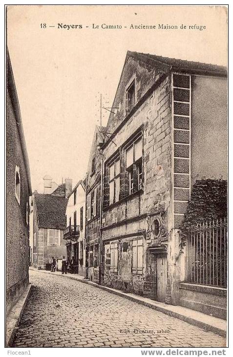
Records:
M7 51L6 88L6 312L28 285L31 179L20 105Z

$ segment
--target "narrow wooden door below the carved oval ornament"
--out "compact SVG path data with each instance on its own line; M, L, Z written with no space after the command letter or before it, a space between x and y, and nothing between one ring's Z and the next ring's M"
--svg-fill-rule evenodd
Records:
M165 302L168 284L167 256L157 256L157 301Z

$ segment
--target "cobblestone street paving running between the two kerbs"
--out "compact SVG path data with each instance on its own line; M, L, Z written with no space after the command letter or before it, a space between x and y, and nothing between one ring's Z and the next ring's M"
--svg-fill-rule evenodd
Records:
M65 276L30 270L30 281L14 347L226 345L224 337Z

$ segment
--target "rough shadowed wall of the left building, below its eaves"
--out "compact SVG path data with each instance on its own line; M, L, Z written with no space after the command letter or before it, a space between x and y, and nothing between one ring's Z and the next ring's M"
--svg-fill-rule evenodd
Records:
M29 231L26 204L29 190L16 116L7 90L6 96L6 304L7 312L28 284ZM20 204L15 197L15 170L20 167Z

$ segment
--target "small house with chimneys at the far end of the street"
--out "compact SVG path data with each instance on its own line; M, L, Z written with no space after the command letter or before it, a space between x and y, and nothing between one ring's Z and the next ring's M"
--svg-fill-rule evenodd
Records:
M44 189L50 183L45 177ZM33 193L33 266L48 268L51 258L61 268L63 255L66 255L64 229L66 228L65 210L72 191L72 180L65 179L52 193ZM47 266L46 266L47 265Z

